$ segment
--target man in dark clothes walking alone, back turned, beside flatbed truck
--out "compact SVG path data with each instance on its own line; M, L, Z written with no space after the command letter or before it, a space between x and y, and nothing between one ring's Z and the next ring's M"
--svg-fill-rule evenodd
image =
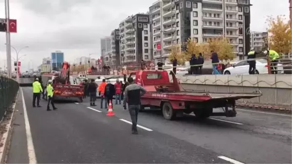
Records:
M123 107L126 109L126 102L128 101L129 114L132 120L132 134L138 134L137 122L138 122L138 113L141 109L141 96L146 93L146 90L134 83L132 77L128 77L129 85L125 89Z

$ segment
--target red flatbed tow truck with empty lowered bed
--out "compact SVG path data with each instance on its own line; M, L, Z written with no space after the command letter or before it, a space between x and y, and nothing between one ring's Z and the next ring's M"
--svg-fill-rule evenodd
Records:
M236 100L262 95L260 91L222 93L184 90L175 74L170 72L171 82L168 73L167 71L137 71L129 75L129 77L135 76L135 83L143 86L147 91L141 97L142 110L146 107L159 108L167 120L191 112L199 118L209 116L235 117L237 114ZM214 108L222 108L222 112L213 112Z

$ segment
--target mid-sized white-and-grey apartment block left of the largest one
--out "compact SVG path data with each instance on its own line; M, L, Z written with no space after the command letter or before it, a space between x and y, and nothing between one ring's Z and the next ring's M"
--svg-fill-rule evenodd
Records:
M119 24L121 64L151 58L150 24L148 14L128 16Z

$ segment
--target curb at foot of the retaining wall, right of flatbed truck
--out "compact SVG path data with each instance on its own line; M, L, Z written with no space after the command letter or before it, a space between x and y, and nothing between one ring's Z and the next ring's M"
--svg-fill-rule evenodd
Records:
M273 105L261 105L261 104L249 104L249 103L236 103L237 107L254 109L254 110L263 110L263 111L272 111L277 113L288 113L292 114L292 108L290 107L280 107Z

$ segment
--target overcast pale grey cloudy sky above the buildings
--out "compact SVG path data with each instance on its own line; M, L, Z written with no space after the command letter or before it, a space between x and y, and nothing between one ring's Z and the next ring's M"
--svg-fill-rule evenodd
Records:
M156 0L10 0L10 18L17 19L18 33L11 34L11 44L23 49L21 70L34 69L42 58L60 50L65 60L76 57L97 58L100 38L110 35L121 20L146 12ZM264 31L268 15L289 15L288 0L251 0L253 31ZM0 0L0 18L5 18L4 0ZM6 60L5 33L0 33L0 67ZM12 56L16 53L12 50Z

